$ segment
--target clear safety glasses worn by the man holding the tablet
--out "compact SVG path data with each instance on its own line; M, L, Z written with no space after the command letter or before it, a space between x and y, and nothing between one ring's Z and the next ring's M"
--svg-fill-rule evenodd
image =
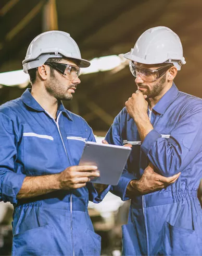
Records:
M45 62L45 65L53 67L60 74L64 75L68 80L76 79L80 74L80 67L72 66L60 62Z

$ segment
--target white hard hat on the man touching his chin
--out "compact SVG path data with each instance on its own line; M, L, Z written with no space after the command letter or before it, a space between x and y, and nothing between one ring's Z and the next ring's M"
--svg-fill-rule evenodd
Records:
M178 70L186 64L180 38L171 29L161 26L146 30L124 57L143 64L173 63Z

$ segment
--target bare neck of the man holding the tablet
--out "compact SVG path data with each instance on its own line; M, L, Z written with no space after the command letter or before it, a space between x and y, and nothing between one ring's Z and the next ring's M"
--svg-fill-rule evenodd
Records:
M31 95L54 119L57 117L58 100L49 95L45 87L40 84L32 86Z

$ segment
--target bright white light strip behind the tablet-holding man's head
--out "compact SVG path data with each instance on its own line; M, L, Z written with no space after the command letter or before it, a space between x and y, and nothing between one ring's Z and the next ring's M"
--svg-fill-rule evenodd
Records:
M90 67L81 68L81 75L112 70L125 62L124 58L118 55L103 56L91 60ZM23 70L0 73L0 85L28 85L29 75Z

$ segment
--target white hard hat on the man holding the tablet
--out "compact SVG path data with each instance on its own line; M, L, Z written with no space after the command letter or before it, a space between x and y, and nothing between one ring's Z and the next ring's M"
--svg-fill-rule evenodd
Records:
M23 71L43 65L50 57L67 57L80 61L80 67L89 67L89 61L81 59L79 46L69 33L52 30L39 34L30 43L25 59L22 62Z

